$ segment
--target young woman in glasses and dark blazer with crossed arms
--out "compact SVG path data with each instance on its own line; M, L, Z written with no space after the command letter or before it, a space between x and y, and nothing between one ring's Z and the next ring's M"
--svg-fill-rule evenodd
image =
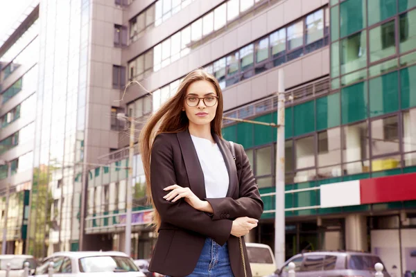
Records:
M241 145L222 139L223 94L196 70L141 131L159 232L149 270L168 276L252 276L244 240L263 202Z

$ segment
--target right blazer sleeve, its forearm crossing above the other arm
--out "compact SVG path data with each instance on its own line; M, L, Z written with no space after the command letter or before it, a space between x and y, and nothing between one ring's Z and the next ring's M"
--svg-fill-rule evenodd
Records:
M241 161L241 177L239 179L239 199L232 197L207 198L211 204L214 214L213 220L220 220L225 215L228 219L234 220L237 217L252 217L257 220L263 213L263 201L261 200L259 188L250 166L247 154L242 145L239 146ZM237 156L237 159L239 157Z

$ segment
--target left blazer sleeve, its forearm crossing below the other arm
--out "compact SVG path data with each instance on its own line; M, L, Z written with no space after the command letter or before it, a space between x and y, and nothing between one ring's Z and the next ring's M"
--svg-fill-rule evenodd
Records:
M231 220L212 220L207 213L196 210L182 199L172 203L163 198L168 194L163 189L177 184L171 139L164 134L159 134L153 143L150 183L153 202L163 222L205 235L220 245L227 242L232 228Z

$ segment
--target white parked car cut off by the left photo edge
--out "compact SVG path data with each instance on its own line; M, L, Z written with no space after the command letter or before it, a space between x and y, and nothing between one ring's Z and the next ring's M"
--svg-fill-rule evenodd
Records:
M31 274L37 267L37 261L30 255L0 255L0 277L6 276L6 269L10 263L10 277L20 277L23 274L24 263L29 262Z

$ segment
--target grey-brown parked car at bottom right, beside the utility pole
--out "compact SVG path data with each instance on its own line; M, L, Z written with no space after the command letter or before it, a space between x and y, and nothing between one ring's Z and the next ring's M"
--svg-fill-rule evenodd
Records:
M296 277L361 276L374 277L379 256L354 251L314 251L297 254L268 277L287 277L289 262L295 264ZM385 269L384 277L391 277Z

